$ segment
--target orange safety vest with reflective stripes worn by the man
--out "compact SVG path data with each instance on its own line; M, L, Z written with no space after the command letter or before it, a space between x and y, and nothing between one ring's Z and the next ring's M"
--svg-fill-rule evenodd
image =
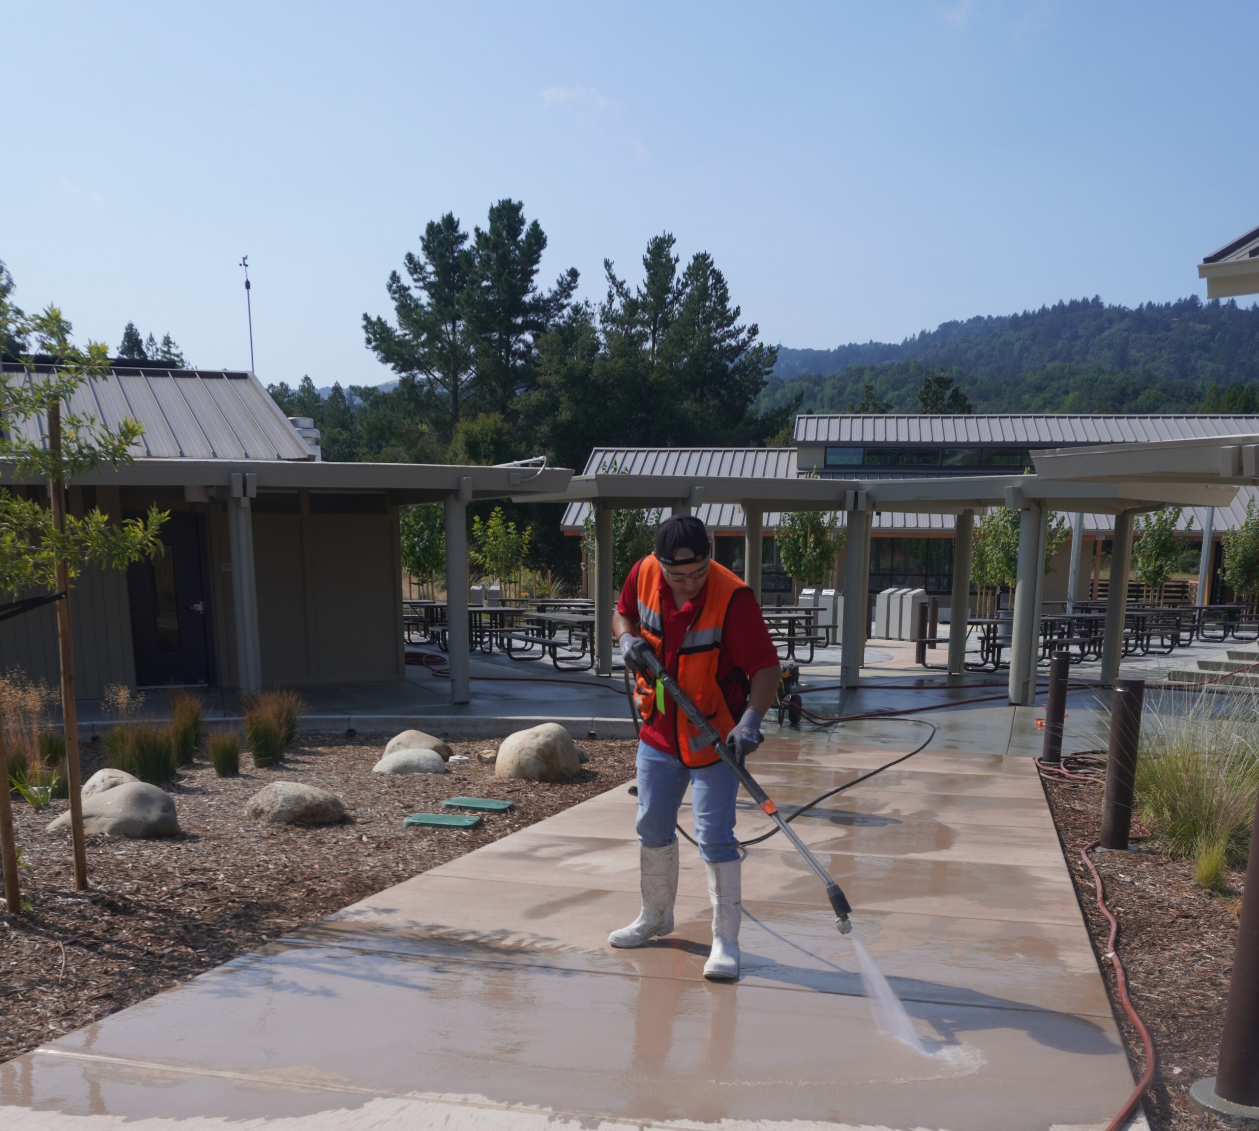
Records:
M660 560L655 554L638 563L638 631L651 645L656 659L665 662L665 611L662 607ZM718 660L721 652L721 630L730 601L739 589L748 588L739 574L711 562L705 584L704 606L700 608L677 652L677 670L670 675L696 707L713 720L725 737L734 729L734 715L725 694L716 680ZM651 719L656 709L656 685L641 675L636 676L638 710L643 720ZM711 766L720 761L718 752L700 738L690 719L674 713L677 751L686 766Z

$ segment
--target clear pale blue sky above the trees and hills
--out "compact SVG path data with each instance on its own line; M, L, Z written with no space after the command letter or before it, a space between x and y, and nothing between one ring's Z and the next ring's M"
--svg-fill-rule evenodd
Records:
M11 4L0 259L81 336L368 384L427 220L710 251L769 343L1205 295L1259 224L1253 3ZM18 156L14 156L18 155Z

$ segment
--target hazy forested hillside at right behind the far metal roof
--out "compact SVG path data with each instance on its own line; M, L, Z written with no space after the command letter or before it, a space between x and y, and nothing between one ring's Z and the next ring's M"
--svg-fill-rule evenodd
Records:
M976 412L1251 412L1259 307L1194 296L1133 310L1084 298L944 322L899 345L779 346L758 407L799 399L802 412L846 412L872 383L893 411L917 412L923 378L939 372Z

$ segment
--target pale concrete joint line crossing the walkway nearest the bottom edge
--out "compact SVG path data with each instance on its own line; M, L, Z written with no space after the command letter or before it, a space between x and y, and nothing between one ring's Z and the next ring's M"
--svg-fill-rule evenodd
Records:
M599 1116L592 1115L588 1111L577 1111L562 1107L535 1107L533 1105L524 1103L495 1103L492 1100L486 1097L473 1098L465 1096L451 1096L449 1093L426 1093L426 1092L399 1092L394 1088L363 1088L355 1084L322 1084L317 1081L293 1081L287 1077L274 1077L267 1073L252 1074L248 1072L228 1072L220 1068L204 1068L201 1066L171 1066L162 1064L159 1060L136 1060L126 1057L106 1057L98 1053L73 1053L63 1052L62 1049L48 1048L47 1045L40 1045L34 1049L31 1055L45 1055L57 1057L65 1060L83 1060L88 1063L97 1064L112 1064L118 1068L137 1068L142 1072L162 1072L171 1076L191 1076L191 1077L204 1077L214 1079L232 1081L233 1083L247 1083L247 1084L273 1084L279 1088L290 1091L305 1091L305 1092L330 1092L332 1094L349 1094L349 1096L368 1096L371 1098L389 1098L389 1100L405 1100L413 1103L441 1103L449 1105L451 1107L471 1107L480 1108L482 1111L490 1112L511 1112L516 1115L533 1115L545 1118L548 1122L553 1122L556 1118L572 1120L579 1123L582 1127L624 1127L624 1128L658 1128L658 1131L711 1131L711 1128L721 1127L735 1128L745 1127L748 1131L772 1131L774 1127L781 1128L799 1128L799 1131L806 1131L808 1127L826 1128L826 1131L894 1131L894 1128L888 1127L885 1123L878 1126L870 1123L820 1123L816 1121L799 1121L791 1120L787 1122L773 1121L768 1122L764 1120L758 1120L755 1123L748 1122L745 1120L726 1120L723 1118L720 1123L701 1123L695 1120L669 1120L667 1122L661 1122L658 1120L643 1120L643 1118L623 1118L619 1116ZM308 1118L308 1117L306 1117ZM598 1122L594 1122L594 1121ZM131 1120L128 1120L131 1122ZM186 1120L171 1120L171 1123L186 1122ZM227 1122L227 1121L224 1121ZM233 1120L232 1122L238 1122ZM295 1121L296 1122L296 1121ZM922 1127L905 1128L905 1131L924 1131ZM1055 1127L1054 1131L1093 1131L1092 1127Z

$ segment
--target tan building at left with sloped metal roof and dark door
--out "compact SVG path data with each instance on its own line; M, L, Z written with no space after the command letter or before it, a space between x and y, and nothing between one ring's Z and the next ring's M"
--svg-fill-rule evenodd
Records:
M37 370L38 372L38 370ZM45 369L47 372L47 369ZM25 370L5 365L6 380ZM120 365L69 409L144 426L133 462L74 479L71 514L169 513L166 552L126 573L88 569L73 592L81 694L110 684L252 690L405 678L399 508L443 503L451 593L451 691L468 699L466 504L562 490L570 471L335 463L317 433L288 421L252 373ZM43 440L40 418L23 435ZM47 497L39 480L9 490ZM0 622L0 670L55 683L52 606Z

